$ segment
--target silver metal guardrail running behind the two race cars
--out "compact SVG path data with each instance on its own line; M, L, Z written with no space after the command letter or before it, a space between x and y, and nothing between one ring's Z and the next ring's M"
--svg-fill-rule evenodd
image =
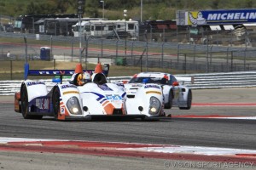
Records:
M239 71L227 73L202 73L175 75L182 83L192 89L206 88L253 88L256 87L256 71ZM183 77L183 78L182 78ZM191 81L187 81L188 77ZM109 82L127 81L131 77L108 77ZM63 79L63 83L68 79ZM0 95L14 95L20 91L20 84L23 81L0 81ZM51 89L55 83L51 80L44 80Z

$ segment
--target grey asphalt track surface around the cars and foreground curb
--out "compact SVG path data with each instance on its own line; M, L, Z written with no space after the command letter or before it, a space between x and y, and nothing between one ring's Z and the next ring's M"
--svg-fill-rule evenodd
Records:
M14 111L14 96L2 96L0 98L0 137L177 144L256 150L255 117L254 120L226 118L256 116L255 92L256 88L194 90L191 110L182 111L175 108L166 111L167 114L172 114L172 119L166 117L160 121L151 122L125 119L56 122L51 117L44 117L43 120L25 120ZM203 118L198 118L199 116ZM137 152L137 156L135 154L127 158L120 154L110 157L91 156L75 154L73 151L73 154L68 155L57 150L23 152L24 150L17 147L11 150L3 148L1 146L0 167L5 169L13 169L15 166L9 158L19 162L16 164L19 166L15 169L24 169L24 167L26 169L51 167L51 169L171 169L175 166L179 166L176 169L188 169L187 167L192 166L188 164L189 161L197 162L197 167L193 169L202 169L199 163L209 161L205 157L196 160L187 159L188 161L182 161L184 157L178 159L173 156L170 157L173 158L172 160L167 157L157 159L159 157L141 156ZM255 157L256 154L250 157L254 163ZM179 160L180 164L176 165L177 162L174 160ZM217 158L213 161L217 161ZM27 167L27 165L31 166ZM213 169L227 169L218 164L208 164L205 167L210 168L213 165L216 167ZM232 166L235 165L230 165ZM236 169L243 168L240 166Z

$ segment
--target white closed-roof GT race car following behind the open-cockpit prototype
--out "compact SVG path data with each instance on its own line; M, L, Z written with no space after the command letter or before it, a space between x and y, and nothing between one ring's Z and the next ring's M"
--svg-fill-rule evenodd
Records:
M134 75L131 80L125 83L126 89L147 86L148 84L162 87L165 109L172 106L181 110L189 110L192 103L191 89L177 82L177 78L172 74L163 72L141 72Z

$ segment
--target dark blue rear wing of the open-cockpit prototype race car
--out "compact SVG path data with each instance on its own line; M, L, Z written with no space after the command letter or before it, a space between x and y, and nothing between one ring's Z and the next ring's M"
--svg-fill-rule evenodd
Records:
M95 70L83 70L84 72L89 72L90 75L94 73ZM104 69L102 73L108 77L109 65L104 64ZM26 80L28 76L59 76L60 82L62 83L63 76L72 76L74 70L30 70L29 64L24 65L24 79Z

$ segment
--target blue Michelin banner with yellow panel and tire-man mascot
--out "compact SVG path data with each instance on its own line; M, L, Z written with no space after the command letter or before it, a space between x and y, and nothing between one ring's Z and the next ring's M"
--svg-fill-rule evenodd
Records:
M256 9L178 11L177 26L232 25L256 22Z

